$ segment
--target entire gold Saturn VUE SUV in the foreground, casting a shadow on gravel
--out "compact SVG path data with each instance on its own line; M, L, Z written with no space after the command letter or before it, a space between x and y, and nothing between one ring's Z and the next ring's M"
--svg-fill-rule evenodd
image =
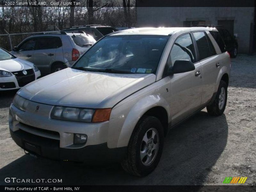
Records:
M94 44L72 68L17 92L12 139L29 153L76 162L117 161L144 176L164 136L197 111L226 107L230 57L215 28L137 28Z

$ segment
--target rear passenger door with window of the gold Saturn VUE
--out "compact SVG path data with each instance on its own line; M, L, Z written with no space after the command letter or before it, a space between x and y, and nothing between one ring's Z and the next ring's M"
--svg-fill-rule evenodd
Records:
M202 105L204 105L211 100L213 93L215 92L221 61L206 32L193 32L193 36L196 41L199 61L203 69Z

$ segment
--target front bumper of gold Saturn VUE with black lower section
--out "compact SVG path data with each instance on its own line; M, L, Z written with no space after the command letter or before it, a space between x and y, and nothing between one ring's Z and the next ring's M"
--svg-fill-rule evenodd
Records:
M30 153L56 160L116 162L124 158L126 147L107 146L109 122L51 119L49 114L52 108L51 105L29 101L26 111L22 111L11 104L9 127L12 139ZM74 144L75 133L86 134L87 142L83 145Z

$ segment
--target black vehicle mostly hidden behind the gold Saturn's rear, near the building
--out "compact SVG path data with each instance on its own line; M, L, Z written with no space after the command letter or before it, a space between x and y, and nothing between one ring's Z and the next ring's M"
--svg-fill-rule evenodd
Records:
M225 45L226 45L226 50L229 52L230 56L235 58L237 55L237 50L238 50L238 43L236 36L231 35L227 29L225 29L222 26L214 26L214 25L196 25L197 27L214 27L216 28L222 37Z

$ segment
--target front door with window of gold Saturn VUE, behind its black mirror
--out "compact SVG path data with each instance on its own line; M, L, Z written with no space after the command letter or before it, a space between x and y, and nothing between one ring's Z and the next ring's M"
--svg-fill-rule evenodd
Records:
M192 61L195 70L165 77L168 78L171 89L171 95L166 97L166 100L171 108L172 125L191 115L201 106L202 68L200 62L196 62L195 46L190 33L179 36L175 40L165 71L172 67L176 60Z

